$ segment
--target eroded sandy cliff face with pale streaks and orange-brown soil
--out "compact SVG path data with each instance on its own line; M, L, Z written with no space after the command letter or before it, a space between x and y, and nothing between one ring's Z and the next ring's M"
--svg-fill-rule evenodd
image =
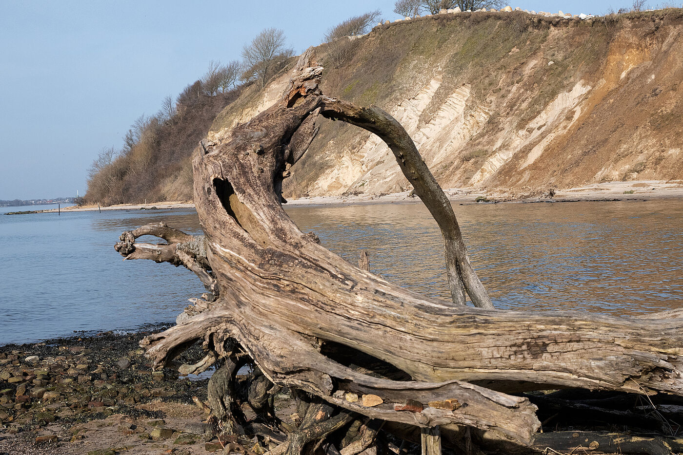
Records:
M376 27L326 67L326 94L377 104L445 188L533 194L615 180L683 179L683 12L581 21L522 12ZM277 100L288 76L214 121L225 134ZM321 119L285 196L410 189L374 136Z

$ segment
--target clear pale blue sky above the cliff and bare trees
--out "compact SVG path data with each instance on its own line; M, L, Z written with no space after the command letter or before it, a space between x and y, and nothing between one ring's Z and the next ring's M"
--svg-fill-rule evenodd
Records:
M394 0L0 0L0 199L83 195L87 168L120 149L140 115L174 99L211 60L239 59L268 27L302 53L351 16ZM628 0L519 0L514 8L601 14Z

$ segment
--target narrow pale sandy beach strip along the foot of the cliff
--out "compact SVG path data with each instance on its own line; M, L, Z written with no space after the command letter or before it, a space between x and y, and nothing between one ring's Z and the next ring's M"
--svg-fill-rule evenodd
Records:
M683 199L683 180L658 181L611 181L575 188L553 190L482 190L477 188L448 188L443 190L451 203L469 205L475 203L564 203L564 202L608 202L608 201L652 201L656 199ZM308 196L292 199L288 207L344 206L387 203L419 203L416 196L408 196L408 191L390 194L348 194L339 196ZM479 199L479 201L477 201ZM61 211L96 210L171 210L194 209L192 201L173 201L148 204L120 204L109 207L72 205ZM40 210L35 213L54 213L57 209Z

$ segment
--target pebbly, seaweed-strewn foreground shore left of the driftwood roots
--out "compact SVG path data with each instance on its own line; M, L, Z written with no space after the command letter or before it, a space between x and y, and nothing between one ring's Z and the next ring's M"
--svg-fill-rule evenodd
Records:
M193 402L195 396L206 400L207 379L154 371L139 347L150 333L110 331L1 346L0 454L215 450L206 415ZM203 353L193 347L190 355Z

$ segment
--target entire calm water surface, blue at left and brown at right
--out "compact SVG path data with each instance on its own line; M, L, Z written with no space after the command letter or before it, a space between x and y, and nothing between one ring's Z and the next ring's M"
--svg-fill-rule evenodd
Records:
M683 201L455 209L499 308L633 314L683 305ZM374 273L449 298L441 234L422 205L288 213L348 261L367 250ZM124 262L113 250L122 231L161 220L201 232L191 210L0 215L0 344L173 321L204 291L199 280L182 267Z

